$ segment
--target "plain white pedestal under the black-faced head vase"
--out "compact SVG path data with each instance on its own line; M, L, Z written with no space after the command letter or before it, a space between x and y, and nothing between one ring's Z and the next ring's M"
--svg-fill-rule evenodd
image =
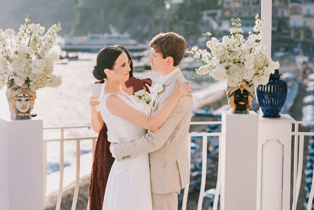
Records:
M255 210L259 115L222 112L220 209Z

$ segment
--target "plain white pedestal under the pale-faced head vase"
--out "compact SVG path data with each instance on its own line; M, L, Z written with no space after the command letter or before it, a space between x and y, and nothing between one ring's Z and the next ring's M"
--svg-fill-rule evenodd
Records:
M42 120L0 118L0 209L42 210Z

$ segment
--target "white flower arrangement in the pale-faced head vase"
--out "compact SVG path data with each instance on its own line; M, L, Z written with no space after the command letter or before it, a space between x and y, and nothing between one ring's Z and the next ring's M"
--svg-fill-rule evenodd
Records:
M13 29L0 29L0 89L13 83L21 87L25 82L32 91L40 88L57 88L62 84L62 76L52 74L54 63L59 56L52 49L56 42L57 32L61 23L53 25L46 34L40 24L30 24L34 15L27 15L25 22L19 28L17 37Z

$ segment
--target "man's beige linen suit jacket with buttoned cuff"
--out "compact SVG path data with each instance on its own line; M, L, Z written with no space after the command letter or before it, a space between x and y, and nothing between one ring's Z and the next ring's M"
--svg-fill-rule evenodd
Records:
M164 91L153 103L151 114L169 98L177 80L186 81L181 71L164 82ZM193 98L181 96L171 115L157 131L148 131L140 139L132 139L114 146L118 161L149 153L151 190L155 194L178 191L189 183L187 146L192 109Z

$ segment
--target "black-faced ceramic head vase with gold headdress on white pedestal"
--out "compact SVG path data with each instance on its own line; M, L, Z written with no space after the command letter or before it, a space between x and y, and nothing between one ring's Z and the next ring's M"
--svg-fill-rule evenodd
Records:
M230 106L230 113L250 113L250 107L254 97L253 84L246 84L246 82L243 81L241 85L237 87L227 86L226 94Z

